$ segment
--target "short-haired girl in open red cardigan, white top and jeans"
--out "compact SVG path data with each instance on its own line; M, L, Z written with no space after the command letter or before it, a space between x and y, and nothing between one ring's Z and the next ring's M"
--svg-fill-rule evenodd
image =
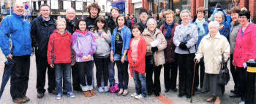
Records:
M132 35L135 36L128 50L129 71L135 81L136 92L132 97L142 99L146 97L146 79L145 79L145 57L146 57L146 40L141 36L142 28L135 25L132 28Z

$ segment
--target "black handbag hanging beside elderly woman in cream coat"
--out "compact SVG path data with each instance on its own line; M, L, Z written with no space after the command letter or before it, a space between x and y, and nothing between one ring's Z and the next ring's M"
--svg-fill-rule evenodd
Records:
M219 71L217 84L226 85L228 81L230 81L230 73L227 68L227 62L225 62L223 55L222 55L222 65L220 68L221 69Z

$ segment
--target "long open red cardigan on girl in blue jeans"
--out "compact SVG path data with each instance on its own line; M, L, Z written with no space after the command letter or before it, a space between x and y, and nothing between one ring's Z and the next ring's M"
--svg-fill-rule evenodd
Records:
M146 44L146 40L143 38L143 36L140 36L140 41L138 43L138 60L136 63L133 63L132 61L132 48L131 48L131 44L132 44L133 39L131 40L130 44L129 44L129 50L128 50L128 62L129 62L129 71L131 73L132 76L132 70L137 71L138 73L145 73L145 57L146 57L146 49L147 49L147 44ZM134 68L132 68L132 66L134 65Z

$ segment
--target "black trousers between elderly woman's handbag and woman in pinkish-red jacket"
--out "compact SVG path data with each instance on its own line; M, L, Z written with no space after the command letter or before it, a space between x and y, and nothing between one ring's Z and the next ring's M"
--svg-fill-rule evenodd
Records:
M233 65L233 55L230 55L230 71L235 83L234 89L239 92L239 71Z

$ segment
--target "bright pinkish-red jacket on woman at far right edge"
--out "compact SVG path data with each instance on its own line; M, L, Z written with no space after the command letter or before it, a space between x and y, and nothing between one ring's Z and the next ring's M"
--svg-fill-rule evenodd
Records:
M243 35L241 35L241 28L236 36L233 55L234 64L238 67L243 67L243 63L250 59L256 59L256 25L250 23Z

